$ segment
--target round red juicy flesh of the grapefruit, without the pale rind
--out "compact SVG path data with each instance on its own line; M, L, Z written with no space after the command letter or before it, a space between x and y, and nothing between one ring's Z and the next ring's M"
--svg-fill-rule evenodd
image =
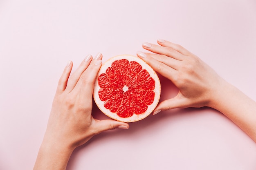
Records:
M135 61L116 60L98 77L99 98L119 117L143 114L155 98L155 80Z

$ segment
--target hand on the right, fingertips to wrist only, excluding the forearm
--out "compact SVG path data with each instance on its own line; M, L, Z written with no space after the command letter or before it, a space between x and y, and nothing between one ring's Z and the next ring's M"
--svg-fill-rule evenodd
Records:
M202 107L213 104L211 99L224 80L197 56L182 46L165 40L158 44L145 42L143 48L153 53L137 52L155 71L170 79L179 93L155 108L154 113L173 108Z

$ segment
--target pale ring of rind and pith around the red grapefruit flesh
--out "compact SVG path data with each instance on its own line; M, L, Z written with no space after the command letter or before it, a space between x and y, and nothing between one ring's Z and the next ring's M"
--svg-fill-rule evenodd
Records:
M146 112L142 113L142 114L138 114L138 115L133 114L131 117L125 117L125 118L119 117L116 113L112 113L110 110L105 108L104 101L101 101L101 99L99 98L99 94L98 94L99 90L101 88L98 84L99 75L101 75L102 73L105 73L106 69L111 66L112 62L114 62L116 60L121 60L121 59L126 59L129 62L131 62L131 61L138 62L142 66L142 68L144 68L148 71L148 73L150 74L150 77L152 77L155 80L155 88L152 90L155 93L155 98L154 98L153 103L148 105L148 109L146 110ZM105 63L102 64L102 66L98 72L97 79L95 80L95 83L94 83L93 97L94 97L94 101L97 104L97 106L99 107L99 109L108 117L115 119L117 121L122 121L122 122L134 122L134 121L139 121L141 119L144 119L145 117L150 115L150 113L153 112L153 110L155 109L155 107L157 106L157 104L159 102L160 93L161 93L161 84L160 84L159 77L157 76L154 69L150 65L148 65L144 60L140 59L137 56L118 55L118 56L108 59Z

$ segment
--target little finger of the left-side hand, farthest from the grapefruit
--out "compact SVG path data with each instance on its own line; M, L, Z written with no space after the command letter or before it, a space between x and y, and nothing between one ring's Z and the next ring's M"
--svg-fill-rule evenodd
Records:
M68 77L70 76L72 66L73 66L73 62L69 61L61 75L61 78L58 81L56 93L63 92L65 90L65 88L67 87L67 80L68 80Z

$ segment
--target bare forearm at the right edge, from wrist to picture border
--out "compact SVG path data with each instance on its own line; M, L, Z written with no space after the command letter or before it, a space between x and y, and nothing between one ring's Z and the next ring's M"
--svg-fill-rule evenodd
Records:
M215 91L210 107L219 110L256 142L256 102L238 88L223 82Z

